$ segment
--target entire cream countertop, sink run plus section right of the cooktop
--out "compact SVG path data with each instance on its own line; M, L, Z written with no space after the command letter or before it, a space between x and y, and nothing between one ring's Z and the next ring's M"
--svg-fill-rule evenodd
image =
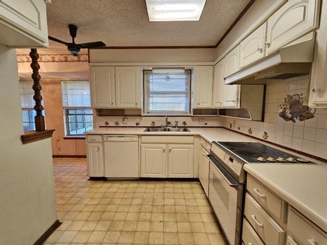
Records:
M144 132L143 127L110 127L85 134L200 135L212 141L261 142L319 165L245 164L244 169L327 232L327 163L279 148L224 128L189 128L191 132Z

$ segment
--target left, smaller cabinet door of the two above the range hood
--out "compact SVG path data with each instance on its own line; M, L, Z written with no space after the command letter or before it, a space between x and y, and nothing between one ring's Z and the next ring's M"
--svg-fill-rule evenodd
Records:
M240 43L240 68L264 57L266 23Z

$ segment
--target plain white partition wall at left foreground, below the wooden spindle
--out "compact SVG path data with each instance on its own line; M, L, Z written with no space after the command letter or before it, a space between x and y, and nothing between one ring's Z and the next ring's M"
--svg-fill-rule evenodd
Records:
M22 144L15 50L0 44L0 243L33 244L57 220L51 139Z

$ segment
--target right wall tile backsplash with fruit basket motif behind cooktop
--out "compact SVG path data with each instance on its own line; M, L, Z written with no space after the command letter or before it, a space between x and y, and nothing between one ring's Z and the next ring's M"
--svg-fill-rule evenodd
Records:
M327 159L326 111L301 104L308 83L308 76L269 82L264 122L225 117L224 128Z

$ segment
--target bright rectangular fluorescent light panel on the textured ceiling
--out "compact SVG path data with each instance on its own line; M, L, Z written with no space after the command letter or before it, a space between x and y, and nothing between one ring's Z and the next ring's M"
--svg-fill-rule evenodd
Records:
M146 0L150 21L197 21L206 0Z

